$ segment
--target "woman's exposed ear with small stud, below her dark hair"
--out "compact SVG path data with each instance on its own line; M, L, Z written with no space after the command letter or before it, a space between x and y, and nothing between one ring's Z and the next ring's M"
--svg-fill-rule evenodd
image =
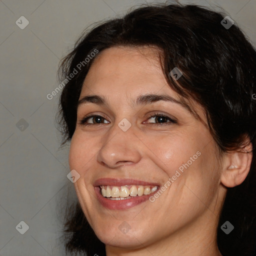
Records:
M246 139L247 142L249 141ZM240 151L224 153L221 183L226 187L234 187L241 184L250 170L252 160L252 144L249 141Z

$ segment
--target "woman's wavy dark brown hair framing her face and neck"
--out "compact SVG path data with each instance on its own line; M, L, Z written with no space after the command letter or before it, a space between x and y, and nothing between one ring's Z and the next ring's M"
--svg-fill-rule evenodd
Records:
M162 51L162 70L169 86L184 99L193 98L205 109L210 132L221 152L244 146L247 136L253 158L246 179L228 188L217 227L217 243L224 256L255 255L256 241L256 52L243 32L233 24L226 29L224 14L198 5L161 4L141 6L122 18L97 24L77 40L60 66L62 79L97 49L112 46L150 46ZM76 107L83 80L93 63L84 64L63 88L59 124L63 142L70 140L76 125ZM169 75L178 67L178 83ZM255 95L255 94L254 94ZM228 220L228 235L220 226ZM77 202L67 213L66 251L105 255Z

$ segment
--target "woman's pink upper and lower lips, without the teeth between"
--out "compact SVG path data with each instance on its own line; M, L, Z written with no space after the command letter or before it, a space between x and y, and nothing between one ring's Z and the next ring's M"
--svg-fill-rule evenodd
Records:
M120 179L120 178L100 178L97 179L94 182L94 190L96 192L96 196L98 201L103 205L104 207L108 209L127 209L131 208L135 205L138 205L146 200L153 195L154 193L151 194L146 194L146 195L141 195L141 196L135 196L133 198L129 199L124 199L124 200L110 200L107 199L106 197L103 197L100 192L100 187L99 185L111 185L111 186L122 186L122 185L127 185L127 184L132 184L132 185L154 185L158 186L157 190L159 189L159 184L157 183L151 183L151 182L146 182L142 180L135 180L135 179Z

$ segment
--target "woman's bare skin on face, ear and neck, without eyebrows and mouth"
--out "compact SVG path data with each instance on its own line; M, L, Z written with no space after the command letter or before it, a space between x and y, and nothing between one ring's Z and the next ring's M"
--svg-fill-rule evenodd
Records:
M155 48L111 47L96 56L84 80L80 98L103 95L108 105L85 103L77 109L77 124L69 151L70 169L82 210L110 255L221 255L216 243L225 186L241 183L251 154L219 154L203 108L191 105L202 121L183 106L167 101L132 105L145 93L179 95L167 84ZM156 112L174 118L152 117ZM79 124L86 115L99 114ZM118 123L126 118L127 131ZM93 121L94 120L94 121ZM160 125L160 122L165 125ZM125 210L104 208L93 182L101 177L134 178L164 185L197 151L201 154L155 199ZM118 228L126 221L127 233Z

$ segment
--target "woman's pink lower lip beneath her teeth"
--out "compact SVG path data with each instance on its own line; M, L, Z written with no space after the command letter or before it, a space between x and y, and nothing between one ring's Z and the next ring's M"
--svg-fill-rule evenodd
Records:
M101 195L100 188L98 186L94 187L98 201L106 208L113 210L121 210L128 209L133 206L138 205L149 199L149 197L153 194L145 194L141 196L134 196L133 198L123 199L123 200L111 200ZM158 190L158 189L157 189ZM157 191L156 190L156 191ZM154 191L154 192L156 192Z

